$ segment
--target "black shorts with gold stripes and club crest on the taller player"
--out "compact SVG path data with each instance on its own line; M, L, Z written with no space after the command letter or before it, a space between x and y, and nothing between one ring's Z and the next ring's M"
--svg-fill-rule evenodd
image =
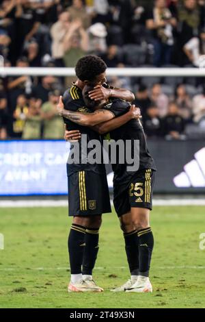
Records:
M69 216L111 212L106 173L75 172L68 177Z

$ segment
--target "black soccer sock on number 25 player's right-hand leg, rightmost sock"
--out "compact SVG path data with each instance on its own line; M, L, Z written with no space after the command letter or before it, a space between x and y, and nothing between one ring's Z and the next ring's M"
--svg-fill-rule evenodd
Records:
M154 237L150 227L138 230L139 238L139 275L149 276Z

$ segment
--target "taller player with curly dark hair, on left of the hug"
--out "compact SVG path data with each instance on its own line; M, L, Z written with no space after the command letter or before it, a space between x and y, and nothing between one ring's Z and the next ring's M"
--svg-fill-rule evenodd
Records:
M64 93L61 104L70 113L89 112L83 101L82 90L86 84L94 84L96 88L91 93L93 99L108 99L120 97L132 101L133 94L128 90L118 90L101 86L106 82L105 71L107 66L100 58L87 55L77 62L76 75L78 77L71 88ZM122 120L132 119L135 112L128 112ZM108 118L109 119L109 118ZM108 120L107 119L107 120ZM78 129L87 134L87 141L100 140L97 132L89 127L77 126L75 118L64 119L69 129ZM80 143L81 150L81 143ZM89 152L89 149L88 149ZM80 151L81 156L81 151ZM85 156L86 158L86 156ZM68 251L70 257L71 280L69 292L102 291L92 278L92 270L98 254L99 228L101 214L111 212L109 189L104 164L67 164L69 215L73 221L68 236ZM98 188L94 189L96 186ZM83 266L83 270L82 270Z

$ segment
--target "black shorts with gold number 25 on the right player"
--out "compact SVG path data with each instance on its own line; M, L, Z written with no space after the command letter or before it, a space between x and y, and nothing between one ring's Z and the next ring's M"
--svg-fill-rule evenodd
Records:
M152 193L155 171L144 169L137 171L127 184L118 184L114 180L113 203L118 216L126 214L132 207L152 210Z

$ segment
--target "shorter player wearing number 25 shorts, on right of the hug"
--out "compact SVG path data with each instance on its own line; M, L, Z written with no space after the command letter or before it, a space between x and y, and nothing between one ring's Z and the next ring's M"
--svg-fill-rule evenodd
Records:
M84 88L83 99L86 106L93 107L93 101L90 101L88 95L89 90L90 88ZM92 114L70 114L66 110L61 110L60 114L68 119L75 118L74 122L87 126L94 126L100 118L101 122L94 129L102 134L108 130L107 119L109 117L113 119L125 113L130 104L120 99L110 99L105 106L101 104L100 110L98 107L99 104L96 104L96 111ZM114 171L113 203L124 232L126 256L131 271L131 279L119 288L114 288L113 291L152 292L149 270L154 247L154 238L150 228L150 210L152 210L152 191L156 171L154 160L148 151L146 137L139 120L128 121L122 127L111 131L109 137L115 141L121 139L124 143L126 140L131 140L132 150L134 149L133 140L139 140L138 171L128 172L126 162L112 164ZM69 132L66 138L69 138Z

